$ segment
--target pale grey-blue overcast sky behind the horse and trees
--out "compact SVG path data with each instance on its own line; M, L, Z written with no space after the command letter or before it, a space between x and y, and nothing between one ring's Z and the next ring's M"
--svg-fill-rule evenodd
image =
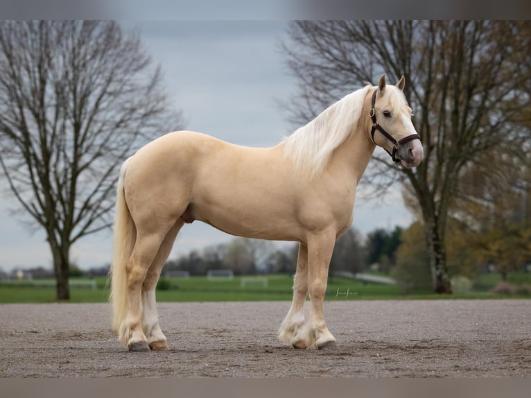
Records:
M128 21L123 26L139 31L153 61L161 65L168 94L182 110L186 129L234 144L272 146L291 132L276 100L297 92L297 81L279 50L279 43L287 38L288 23ZM5 181L1 184L6 191ZM5 193L1 195L0 268L50 268L45 234L31 232L22 223L28 218L10 216L17 204ZM385 202L369 203L358 194L354 227L363 234L376 227L407 226L411 220L398 185ZM183 227L170 258L229 239L232 236L195 222ZM71 259L85 269L109 263L110 241L110 231L88 236L73 246Z

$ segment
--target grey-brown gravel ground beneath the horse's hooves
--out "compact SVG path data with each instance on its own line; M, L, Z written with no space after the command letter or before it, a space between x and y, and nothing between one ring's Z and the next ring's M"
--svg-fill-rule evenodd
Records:
M0 377L531 377L531 300L325 302L335 351L277 340L289 302L159 303L132 353L107 304L0 305Z

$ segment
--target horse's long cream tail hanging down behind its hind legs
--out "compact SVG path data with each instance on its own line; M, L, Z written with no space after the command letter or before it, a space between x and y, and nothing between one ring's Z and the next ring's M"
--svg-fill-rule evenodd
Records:
M112 265L109 272L111 281L110 302L112 303L112 330L118 332L127 313L128 277L125 270L127 261L137 239L134 226L123 191L123 179L130 159L121 169L116 189L116 215L114 216L114 239Z

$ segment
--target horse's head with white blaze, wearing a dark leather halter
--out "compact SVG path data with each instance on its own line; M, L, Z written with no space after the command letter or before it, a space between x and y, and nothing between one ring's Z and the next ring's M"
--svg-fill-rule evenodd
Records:
M385 75L372 92L369 116L372 119L371 137L374 144L385 149L396 163L415 167L424 156L420 136L411 121L411 108L403 94L406 79L397 85L387 85Z

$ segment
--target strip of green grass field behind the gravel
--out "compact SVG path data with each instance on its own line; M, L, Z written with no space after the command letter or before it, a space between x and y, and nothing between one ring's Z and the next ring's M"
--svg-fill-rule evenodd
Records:
M207 277L163 278L159 282L157 301L159 302L209 302L209 301L263 301L291 300L293 277L290 275L265 275L254 278L266 278L268 286L256 280L252 283L245 277L247 284L242 285L242 277L230 281L210 281ZM510 282L529 283L531 274L513 275ZM76 279L78 281L82 278ZM87 279L88 280L88 279ZM108 299L107 280L96 278L96 289L71 288L70 302L106 302ZM489 293L489 289L499 282L499 275L481 276L475 281L480 291L464 295L435 295L429 291L404 293L401 286L372 284L353 281L341 277L329 277L325 300L376 300L376 299L437 299L437 298L501 298L504 295ZM32 287L28 282L0 284L0 303L46 303L55 302L53 281L49 287ZM529 297L512 295L510 297Z

